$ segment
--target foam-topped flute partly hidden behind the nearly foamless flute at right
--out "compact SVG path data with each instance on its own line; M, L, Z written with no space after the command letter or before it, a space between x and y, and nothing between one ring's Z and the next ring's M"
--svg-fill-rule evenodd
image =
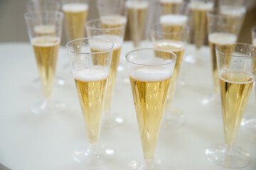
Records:
M223 14L223 10L215 9L207 13L207 18L214 92L208 98L203 99L203 104L215 101L216 96L220 93L215 47L220 44L233 44L238 40L243 15L226 15Z

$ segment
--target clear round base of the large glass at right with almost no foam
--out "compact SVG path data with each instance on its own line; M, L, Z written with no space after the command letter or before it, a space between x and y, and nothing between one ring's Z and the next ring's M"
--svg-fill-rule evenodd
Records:
M237 146L226 144L213 145L206 149L206 157L209 162L225 168L242 168L250 164L250 154Z

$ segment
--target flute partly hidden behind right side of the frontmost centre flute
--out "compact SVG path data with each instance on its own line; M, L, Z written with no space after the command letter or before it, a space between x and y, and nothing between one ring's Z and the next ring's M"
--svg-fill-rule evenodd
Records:
M174 31L173 31L174 30ZM172 99L176 89L176 81L178 73L181 68L181 62L185 45L188 40L189 27L187 25L166 25L163 23L155 23L151 27L151 40L154 47L161 50L170 50L176 55L176 64L174 67L174 74L171 77L171 87L169 91L168 100L166 103L166 110L164 116L164 128L175 128L184 123L184 116L182 111L171 107Z

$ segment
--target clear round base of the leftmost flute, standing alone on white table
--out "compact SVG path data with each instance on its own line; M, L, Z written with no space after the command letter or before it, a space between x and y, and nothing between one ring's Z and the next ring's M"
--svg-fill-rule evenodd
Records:
M50 103L43 101L32 106L31 111L36 115L45 115L48 113L58 113L58 111L63 110L65 106L65 103L61 103L60 101L50 101Z

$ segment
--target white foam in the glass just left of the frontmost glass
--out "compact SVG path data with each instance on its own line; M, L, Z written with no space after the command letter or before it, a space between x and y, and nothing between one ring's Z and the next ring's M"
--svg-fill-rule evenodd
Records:
M73 70L73 76L75 79L80 81L100 81L102 79L107 79L108 70L102 66L93 66L86 68L78 68Z

